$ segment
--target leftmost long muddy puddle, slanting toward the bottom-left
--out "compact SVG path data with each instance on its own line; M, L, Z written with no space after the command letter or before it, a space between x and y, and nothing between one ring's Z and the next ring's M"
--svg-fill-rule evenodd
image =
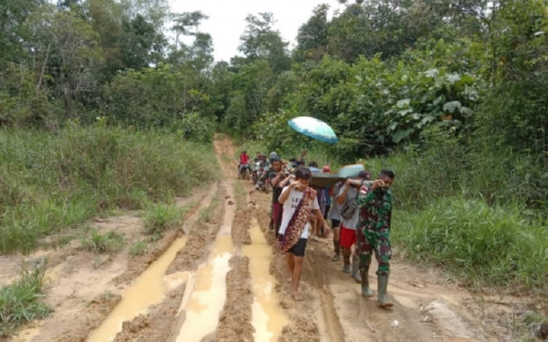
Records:
M117 307L112 310L99 328L89 334L87 342L112 341L116 334L121 332L124 321L132 320L139 314L145 314L148 307L162 302L166 290L172 287L175 282L173 277L166 282L164 274L169 264L175 259L178 250L183 248L185 243L187 243L186 236L173 241L166 252L121 293L122 299ZM180 274L180 277L183 278L180 282L186 280L185 274Z

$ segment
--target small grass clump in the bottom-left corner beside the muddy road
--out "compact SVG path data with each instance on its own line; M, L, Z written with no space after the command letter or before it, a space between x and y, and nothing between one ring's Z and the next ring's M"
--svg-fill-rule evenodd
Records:
M0 337L9 336L22 324L44 318L51 309L42 301L46 263L24 265L19 279L0 289Z

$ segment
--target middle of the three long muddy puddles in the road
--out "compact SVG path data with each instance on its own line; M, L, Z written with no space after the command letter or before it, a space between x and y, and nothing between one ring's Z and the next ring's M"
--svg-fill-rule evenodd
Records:
M200 341L216 330L225 305L226 274L233 252L230 234L219 234L207 264L190 275L179 309L186 311L185 323L175 341Z

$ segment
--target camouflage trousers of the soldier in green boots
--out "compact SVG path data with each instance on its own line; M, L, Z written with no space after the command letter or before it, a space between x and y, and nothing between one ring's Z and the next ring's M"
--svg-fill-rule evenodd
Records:
M390 259L392 248L390 243L390 230L368 230L358 228L356 230L356 253L359 255L359 269L364 271L371 264L371 253L375 250L375 257L379 268L377 275L390 273Z

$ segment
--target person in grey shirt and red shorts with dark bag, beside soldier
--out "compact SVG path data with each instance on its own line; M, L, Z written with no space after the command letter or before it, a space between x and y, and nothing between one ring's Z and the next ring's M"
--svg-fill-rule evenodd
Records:
M368 171L360 171L359 180L371 179L371 173ZM353 185L350 178L344 183L344 186L339 190L336 197L336 202L339 204L339 214L341 214L341 228L339 243L343 250L343 272L351 273L354 280L361 282L359 273L359 257L354 253L352 257L352 270L350 269L350 255L352 254L352 245L356 244L356 227L359 221L358 194L360 185Z

